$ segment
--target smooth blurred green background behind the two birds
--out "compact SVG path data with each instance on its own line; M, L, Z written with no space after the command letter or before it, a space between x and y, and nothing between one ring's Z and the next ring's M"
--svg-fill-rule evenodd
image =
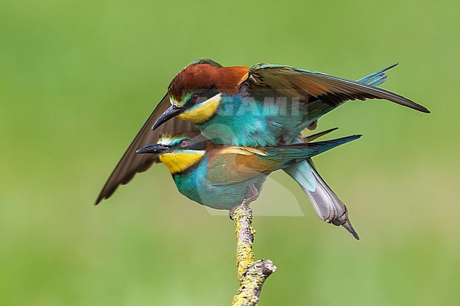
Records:
M255 217L255 256L279 268L261 306L459 305L459 4L0 1L0 305L229 305L234 225L166 167L93 206L197 57L345 78L399 61L383 87L432 111L358 101L320 120L364 134L315 158L362 240L275 173L287 189L261 204L294 195L306 216Z

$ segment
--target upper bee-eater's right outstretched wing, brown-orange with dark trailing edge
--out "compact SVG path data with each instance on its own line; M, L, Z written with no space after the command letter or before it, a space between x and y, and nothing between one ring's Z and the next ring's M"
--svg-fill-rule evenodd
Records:
M289 66L257 64L249 69L248 77L239 85L240 91L254 97L260 96L265 88L299 100L309 101L313 97L333 107L346 100L384 99L420 112L430 112L422 105L388 90Z

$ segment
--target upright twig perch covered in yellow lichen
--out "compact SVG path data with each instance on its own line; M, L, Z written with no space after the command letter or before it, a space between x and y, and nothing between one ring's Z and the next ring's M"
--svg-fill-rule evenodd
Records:
M236 266L240 288L234 295L232 306L258 305L260 291L265 280L276 271L271 260L254 261L253 241L253 211L248 204L235 206L230 217L234 220L236 229Z

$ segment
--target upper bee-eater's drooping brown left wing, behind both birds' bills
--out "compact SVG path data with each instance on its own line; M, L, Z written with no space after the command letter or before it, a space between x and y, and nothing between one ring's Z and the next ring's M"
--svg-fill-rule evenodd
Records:
M194 124L178 118L173 118L160 126L159 129L152 131L151 126L154 125L161 114L170 106L171 103L169 102L168 95L165 95L163 99L161 99L159 105L155 107L149 119L144 123L139 133L137 133L136 138L134 138L125 154L123 154L107 182L105 182L96 200L96 205L103 199L110 198L120 184L127 184L130 182L137 172L144 172L149 169L152 163L159 163L158 158L152 158L149 154L136 154L137 149L156 143L159 139L159 135L163 133L199 131Z

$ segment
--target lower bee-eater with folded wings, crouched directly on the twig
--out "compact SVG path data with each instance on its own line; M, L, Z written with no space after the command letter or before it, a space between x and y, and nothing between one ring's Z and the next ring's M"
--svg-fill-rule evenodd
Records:
M216 145L201 134L173 134L140 148L137 153L158 157L173 175L179 192L192 201L212 208L231 209L256 198L271 172L358 138L360 135L253 148ZM342 225L359 239L349 220Z

